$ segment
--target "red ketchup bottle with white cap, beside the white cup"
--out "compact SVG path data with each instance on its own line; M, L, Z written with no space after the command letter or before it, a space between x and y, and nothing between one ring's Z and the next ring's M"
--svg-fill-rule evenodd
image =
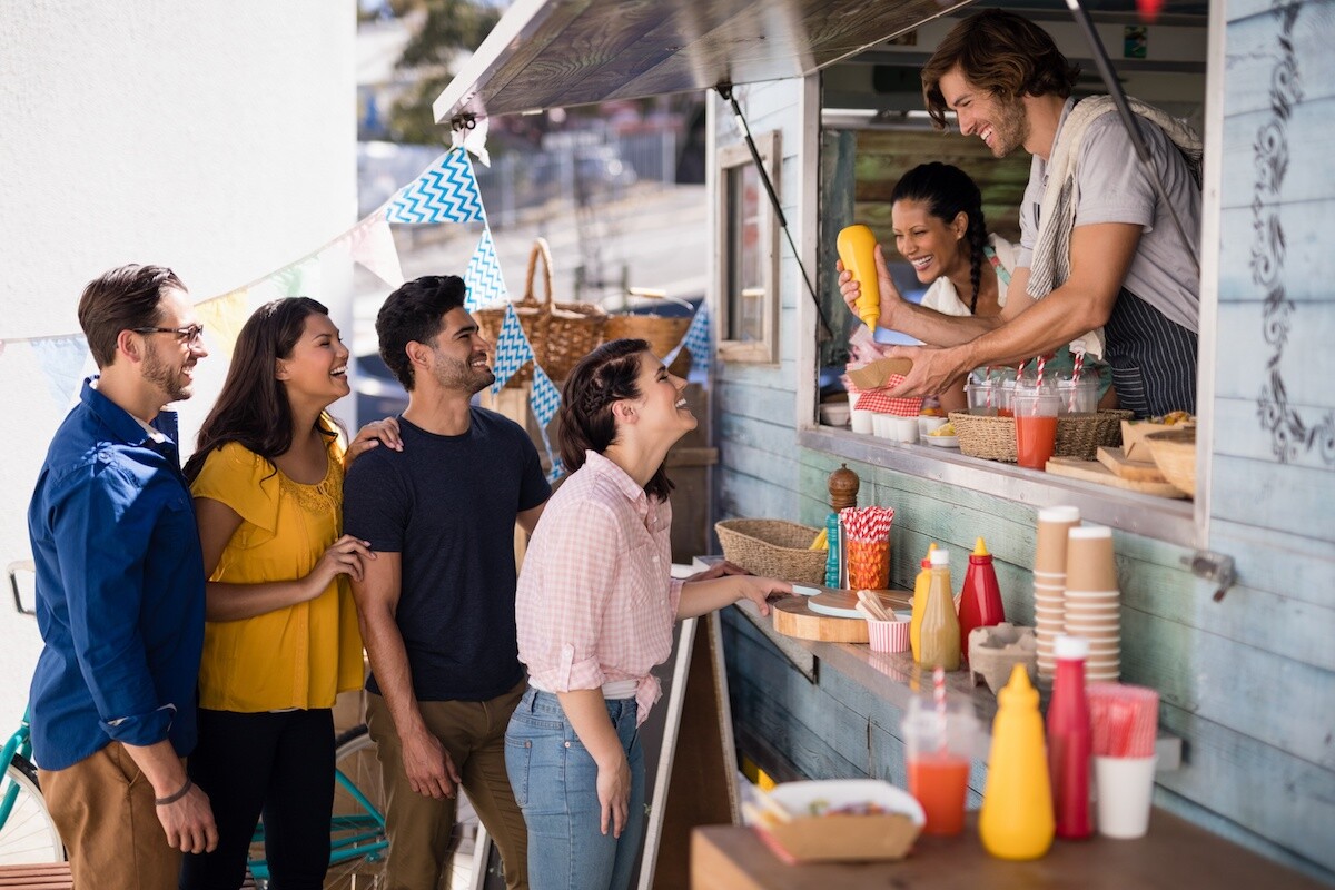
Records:
M1084 662L1089 643L1081 636L1057 636L1057 675L1048 705L1048 775L1057 837L1077 839L1093 833L1089 814L1089 763L1093 730L1085 699Z

